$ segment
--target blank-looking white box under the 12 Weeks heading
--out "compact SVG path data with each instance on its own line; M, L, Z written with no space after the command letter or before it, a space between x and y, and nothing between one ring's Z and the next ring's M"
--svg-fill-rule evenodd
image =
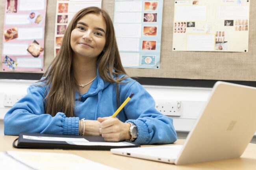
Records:
M249 6L219 6L217 7L217 18L219 19L244 19L249 18Z

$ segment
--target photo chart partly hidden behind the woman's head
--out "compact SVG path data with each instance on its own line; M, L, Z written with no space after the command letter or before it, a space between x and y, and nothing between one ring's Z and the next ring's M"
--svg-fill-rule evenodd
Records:
M61 47L64 33L73 16L86 7L95 6L101 8L101 4L102 0L57 0L54 56L56 56Z

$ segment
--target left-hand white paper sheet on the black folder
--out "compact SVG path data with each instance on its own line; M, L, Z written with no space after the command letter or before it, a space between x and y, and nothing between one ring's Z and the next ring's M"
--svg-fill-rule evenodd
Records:
M23 135L24 139L39 140L39 141L73 141L73 142L89 142L84 138L69 138L69 137L45 137L45 136L28 136Z

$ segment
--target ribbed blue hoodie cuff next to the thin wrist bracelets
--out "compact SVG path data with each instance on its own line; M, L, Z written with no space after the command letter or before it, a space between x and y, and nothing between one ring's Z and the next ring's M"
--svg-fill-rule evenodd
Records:
M63 135L78 135L79 134L79 117L65 117L62 121Z

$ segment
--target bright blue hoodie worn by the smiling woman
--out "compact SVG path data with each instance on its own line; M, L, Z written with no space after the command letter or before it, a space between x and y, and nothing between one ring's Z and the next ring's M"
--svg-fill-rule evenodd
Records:
M138 144L174 143L177 139L173 119L155 109L154 99L137 81L128 78L119 84L120 104L134 93L117 118L122 122L132 122L138 128ZM43 85L43 82L35 84ZM4 117L4 134L19 135L21 132L78 135L79 119L97 120L111 116L118 108L116 84L104 81L97 72L97 78L87 91L76 93L75 116L66 117L58 112L54 117L45 114L46 86L32 84L27 95L20 99Z

